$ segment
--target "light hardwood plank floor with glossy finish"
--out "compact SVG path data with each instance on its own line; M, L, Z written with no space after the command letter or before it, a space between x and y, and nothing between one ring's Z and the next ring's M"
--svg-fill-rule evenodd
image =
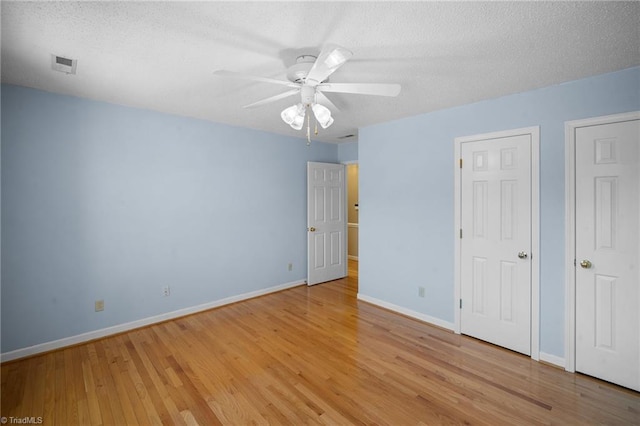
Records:
M359 302L350 263L347 279L4 363L0 414L46 425L640 424L636 392Z

